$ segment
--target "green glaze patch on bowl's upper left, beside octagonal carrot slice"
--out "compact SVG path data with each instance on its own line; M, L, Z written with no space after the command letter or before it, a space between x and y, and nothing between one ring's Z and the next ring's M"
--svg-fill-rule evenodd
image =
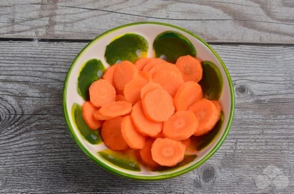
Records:
M90 59L81 67L78 77L78 93L84 99L89 99L89 87L91 83L101 78L105 67L98 59Z

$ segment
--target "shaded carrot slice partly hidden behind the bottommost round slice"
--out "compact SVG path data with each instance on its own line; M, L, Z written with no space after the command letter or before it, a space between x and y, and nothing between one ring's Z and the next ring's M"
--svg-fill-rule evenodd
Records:
M152 159L151 147L154 141L155 139L152 138L146 140L144 147L139 150L142 161L150 167L159 166L159 164Z

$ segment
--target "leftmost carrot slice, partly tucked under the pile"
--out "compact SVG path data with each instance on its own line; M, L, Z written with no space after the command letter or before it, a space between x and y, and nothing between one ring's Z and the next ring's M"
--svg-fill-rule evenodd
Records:
M93 113L97 111L97 107L95 107L91 102L86 101L82 105L82 115L85 123L91 130L97 130L102 126L102 121L97 121Z

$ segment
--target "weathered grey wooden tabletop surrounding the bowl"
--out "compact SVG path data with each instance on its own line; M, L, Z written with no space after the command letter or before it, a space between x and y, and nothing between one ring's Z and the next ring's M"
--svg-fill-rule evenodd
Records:
M66 72L102 32L180 26L223 58L235 90L230 134L180 177L117 177L83 155L62 113ZM294 192L294 2L0 1L0 192Z

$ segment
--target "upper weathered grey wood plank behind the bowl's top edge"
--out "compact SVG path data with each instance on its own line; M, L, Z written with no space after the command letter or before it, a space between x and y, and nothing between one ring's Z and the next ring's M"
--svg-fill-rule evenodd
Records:
M136 21L177 25L210 42L294 44L290 0L0 1L0 37L88 40Z

